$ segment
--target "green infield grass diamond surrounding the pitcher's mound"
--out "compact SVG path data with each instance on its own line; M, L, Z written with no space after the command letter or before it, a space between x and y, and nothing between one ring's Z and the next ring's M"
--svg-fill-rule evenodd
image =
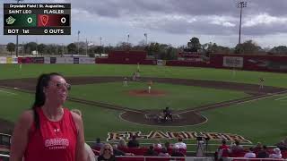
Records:
M145 82L128 82L127 87L123 86L122 82L78 85L73 86L70 96L134 109L163 109L165 106L170 106L173 110L194 108L248 96L238 91L163 83L153 83L152 90L164 91L165 96L136 97L128 94L128 91L136 89L146 90L147 85Z

